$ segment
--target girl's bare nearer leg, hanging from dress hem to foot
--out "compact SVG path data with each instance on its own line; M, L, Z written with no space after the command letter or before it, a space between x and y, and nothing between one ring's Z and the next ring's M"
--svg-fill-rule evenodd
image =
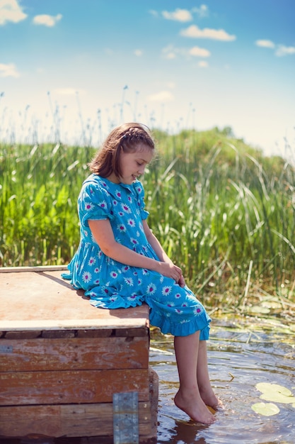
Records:
M197 369L199 368L203 389L206 377L203 366L200 364L198 366L199 331L192 335L175 336L174 348L180 380L180 387L174 399L175 405L185 411L194 421L204 424L214 423L214 416L202 400L197 380ZM202 351L203 355L204 350Z

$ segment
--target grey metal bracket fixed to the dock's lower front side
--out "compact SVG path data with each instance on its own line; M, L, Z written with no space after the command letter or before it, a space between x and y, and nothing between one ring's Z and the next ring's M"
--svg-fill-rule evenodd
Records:
M112 395L114 444L139 444L138 392Z

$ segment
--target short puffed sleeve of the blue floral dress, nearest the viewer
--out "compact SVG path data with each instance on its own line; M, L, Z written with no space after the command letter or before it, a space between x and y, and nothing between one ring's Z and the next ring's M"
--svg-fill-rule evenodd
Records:
M78 211L81 224L88 227L88 220L112 220L112 202L110 194L99 184L83 184L78 198Z

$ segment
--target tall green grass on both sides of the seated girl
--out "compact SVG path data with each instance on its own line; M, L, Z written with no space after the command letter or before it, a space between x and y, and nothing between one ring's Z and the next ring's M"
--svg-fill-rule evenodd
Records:
M149 224L190 287L212 306L266 290L294 300L294 167L218 131L155 136L158 155L143 179ZM0 149L1 265L69 262L95 150Z

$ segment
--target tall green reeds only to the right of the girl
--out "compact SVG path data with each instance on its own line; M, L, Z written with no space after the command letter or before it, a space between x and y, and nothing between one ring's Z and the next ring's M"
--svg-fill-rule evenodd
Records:
M146 179L150 223L196 291L243 296L250 279L294 298L294 168L212 132L158 138L171 167Z

